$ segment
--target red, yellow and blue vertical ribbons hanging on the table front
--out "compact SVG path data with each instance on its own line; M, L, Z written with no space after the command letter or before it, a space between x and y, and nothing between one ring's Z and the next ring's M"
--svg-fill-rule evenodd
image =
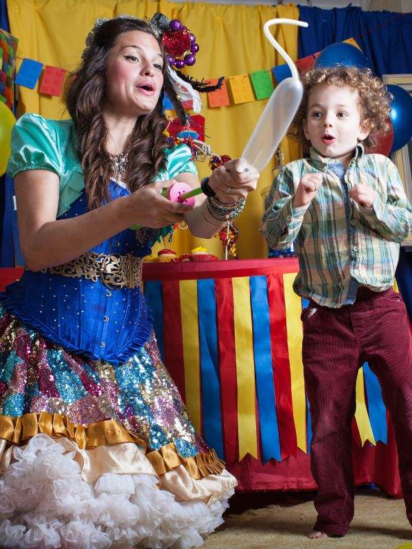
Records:
M145 293L155 329L163 329L165 365L209 446L231 463L247 453L280 461L307 453L312 438L299 318L308 303L293 293L295 273L247 276L238 264L223 277L215 265L216 278L159 274ZM356 381L355 419L362 444L387 442L382 391L367 364Z

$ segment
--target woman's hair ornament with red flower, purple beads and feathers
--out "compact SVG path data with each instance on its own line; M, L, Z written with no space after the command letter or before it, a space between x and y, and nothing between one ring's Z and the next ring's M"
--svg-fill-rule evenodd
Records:
M113 19L138 20L137 17L127 14L117 15ZM155 13L155 15L152 16L152 19L146 19L157 38L161 39L161 43L165 48L168 61L168 74L178 100L181 102L192 101L194 112L200 113L202 102L199 92L205 93L219 89L222 86L224 77L220 77L216 85L209 86L203 82L203 79L195 80L194 78L181 73L179 69L183 69L185 65L192 67L196 62L196 54L200 49L196 43L196 36L194 36L187 27L182 25L178 19L172 19L172 21L170 21L170 19L162 13ZM103 23L106 23L106 21L111 21L111 19L106 17L96 19L93 29L87 35L86 48L82 53L82 58L85 57L87 50L93 43L95 32Z

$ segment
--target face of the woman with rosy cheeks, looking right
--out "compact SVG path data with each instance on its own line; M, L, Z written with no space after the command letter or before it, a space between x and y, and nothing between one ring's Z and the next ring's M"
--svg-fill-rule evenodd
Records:
M106 108L138 117L155 108L163 86L163 57L152 34L123 32L108 54Z

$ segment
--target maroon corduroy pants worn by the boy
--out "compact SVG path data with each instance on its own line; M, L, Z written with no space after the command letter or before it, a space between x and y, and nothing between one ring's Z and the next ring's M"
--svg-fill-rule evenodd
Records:
M319 486L314 530L345 535L354 516L351 421L359 367L382 386L398 447L402 492L412 524L412 355L400 294L360 288L340 309L310 301L302 312L303 361L312 415L310 465Z

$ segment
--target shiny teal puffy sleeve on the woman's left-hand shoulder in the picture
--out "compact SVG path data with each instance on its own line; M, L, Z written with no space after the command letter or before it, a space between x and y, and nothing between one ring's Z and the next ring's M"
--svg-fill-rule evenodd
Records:
M26 170L49 170L60 176L62 163L56 137L42 116L26 114L16 121L11 149L7 167L11 177Z

